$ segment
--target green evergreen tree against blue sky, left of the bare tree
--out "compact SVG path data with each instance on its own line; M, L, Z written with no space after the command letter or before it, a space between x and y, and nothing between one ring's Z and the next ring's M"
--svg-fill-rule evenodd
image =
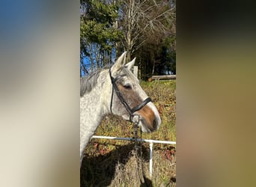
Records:
M121 31L113 26L118 4L100 0L82 0L80 4L80 64L84 75L112 61Z

